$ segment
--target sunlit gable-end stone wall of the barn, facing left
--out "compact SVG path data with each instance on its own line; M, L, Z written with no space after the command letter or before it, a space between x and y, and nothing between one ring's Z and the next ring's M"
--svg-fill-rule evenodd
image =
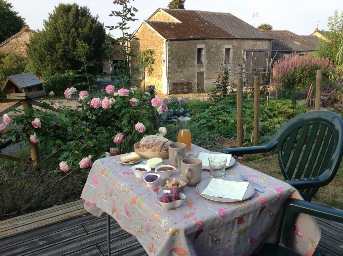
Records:
M138 29L135 37L139 40L132 39L130 41L131 50L138 54L147 49L153 49L156 52L155 64L153 65L154 73L150 76L145 72L145 87L155 85L157 91L167 93L167 77L166 77L166 62L165 61L165 41L159 36L150 26L143 23ZM132 59L132 67L138 67L136 59ZM137 72L132 72L133 78L142 79L142 75ZM143 87L143 82L135 82L138 87ZM163 86L164 85L164 86Z

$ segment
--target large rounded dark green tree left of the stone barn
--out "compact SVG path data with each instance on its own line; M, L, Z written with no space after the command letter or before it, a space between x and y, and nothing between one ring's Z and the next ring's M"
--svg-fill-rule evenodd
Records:
M29 69L36 74L78 70L81 63L73 53L76 42L81 41L92 49L87 57L97 62L92 70L97 72L102 68L105 37L104 24L86 6L60 3L44 20L43 30L32 36L27 45Z

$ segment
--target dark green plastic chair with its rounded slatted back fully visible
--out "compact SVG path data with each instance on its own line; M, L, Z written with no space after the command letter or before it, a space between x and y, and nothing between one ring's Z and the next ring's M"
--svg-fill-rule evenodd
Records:
M330 111L311 111L289 120L263 146L226 148L233 156L277 150L285 182L307 201L319 187L329 184L340 166L343 147L343 121ZM293 154L292 154L293 153ZM261 170L263 172L263 170Z

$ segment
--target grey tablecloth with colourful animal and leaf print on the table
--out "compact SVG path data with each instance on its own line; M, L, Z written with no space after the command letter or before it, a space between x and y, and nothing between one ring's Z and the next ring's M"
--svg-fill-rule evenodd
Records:
M208 152L195 145L191 151ZM243 173L263 183L267 186L264 193L256 191L243 202L220 203L201 197L195 187L186 187L182 192L185 203L166 211L157 201L159 183L147 187L143 179L135 177L131 166L120 164L118 159L107 157L93 163L81 198L91 214L106 212L115 218L149 255L251 255L265 242L275 241L285 200L301 199L291 185L237 163L226 172L237 179ZM172 176L180 178L177 171ZM203 170L202 180L210 178L209 171ZM312 255L320 239L316 221L299 214L293 230L292 249L300 255Z

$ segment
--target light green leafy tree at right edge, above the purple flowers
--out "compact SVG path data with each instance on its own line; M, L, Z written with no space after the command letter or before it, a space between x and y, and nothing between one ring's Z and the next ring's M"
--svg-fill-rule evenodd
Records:
M333 13L328 18L329 31L324 33L324 38L320 38L322 45L317 47L316 54L319 57L327 57L335 63L337 52L341 45L341 35L343 34L343 11Z

